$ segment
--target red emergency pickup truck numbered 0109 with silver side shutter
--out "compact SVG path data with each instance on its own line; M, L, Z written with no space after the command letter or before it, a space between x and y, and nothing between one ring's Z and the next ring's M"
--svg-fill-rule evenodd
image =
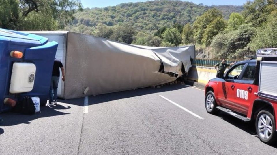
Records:
M277 49L260 49L256 60L235 63L223 78L205 86L208 113L228 113L242 121L255 121L262 142L277 140Z

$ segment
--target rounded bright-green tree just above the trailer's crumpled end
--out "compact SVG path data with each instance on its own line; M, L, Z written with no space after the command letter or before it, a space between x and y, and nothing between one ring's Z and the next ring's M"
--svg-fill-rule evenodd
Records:
M178 46L181 43L181 34L177 28L168 28L162 34L163 42L169 42Z

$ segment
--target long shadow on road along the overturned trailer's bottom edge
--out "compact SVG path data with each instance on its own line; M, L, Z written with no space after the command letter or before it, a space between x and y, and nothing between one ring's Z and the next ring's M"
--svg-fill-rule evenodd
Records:
M109 101L113 101L113 100L119 100L119 99L123 99L123 98L130 98L130 97L142 96L142 95L159 93L159 92L173 91L173 90L178 90L178 89L182 89L182 88L186 88L186 87L189 87L189 86L182 85L182 84L174 84L174 85L164 85L164 86L161 86L161 88L147 87L147 88L140 88L140 89L135 89L135 90L126 90L126 91L121 91L121 92L89 96L89 105L103 103L103 102L109 102ZM70 100L58 100L58 102L83 106L84 98L76 98L76 99L70 99Z

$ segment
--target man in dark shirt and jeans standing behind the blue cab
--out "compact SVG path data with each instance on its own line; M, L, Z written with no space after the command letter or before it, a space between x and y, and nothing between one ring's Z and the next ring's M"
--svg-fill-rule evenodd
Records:
M62 73L61 79L64 81L65 74L64 74L63 64L61 63L61 61L55 59L54 65L53 65L52 77L51 77L48 104L55 104L55 105L57 104L57 90L58 90L58 84L59 84L59 78L60 78L60 68Z

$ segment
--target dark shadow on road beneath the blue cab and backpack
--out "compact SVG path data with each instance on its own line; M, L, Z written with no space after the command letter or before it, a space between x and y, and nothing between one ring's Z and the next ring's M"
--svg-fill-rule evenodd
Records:
M2 113L1 117L3 118L3 122L0 124L0 126L12 126L12 125L18 125L22 123L29 124L30 121L38 118L66 115L69 113L63 113L57 110L70 109L70 108L71 108L70 106L65 107L58 104L56 106L41 106L40 113L35 113L33 115L23 115L23 114L14 113L14 112ZM0 128L0 134L1 134L1 128Z

